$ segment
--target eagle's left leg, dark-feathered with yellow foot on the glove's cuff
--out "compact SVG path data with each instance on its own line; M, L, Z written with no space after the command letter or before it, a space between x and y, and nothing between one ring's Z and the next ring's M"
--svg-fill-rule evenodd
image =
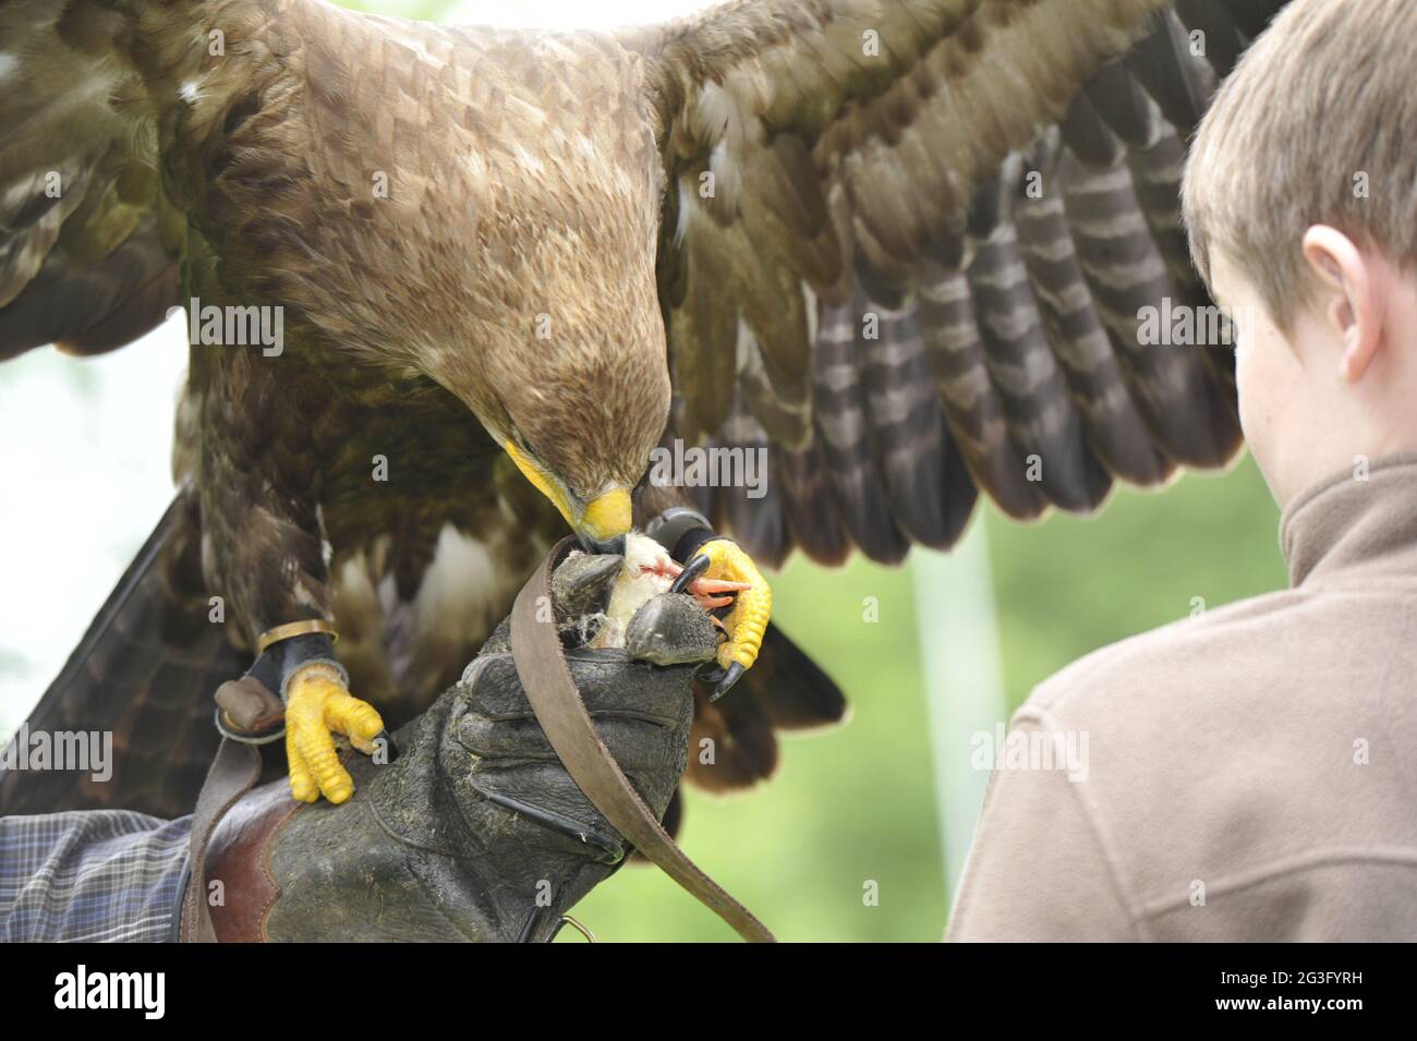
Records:
M207 296L207 293L203 293ZM334 595L319 510L319 431L339 442L346 422L323 377L282 358L281 375L231 348L208 358L201 431L204 574L258 656L272 656L285 701L290 793L332 803L354 792L334 735L363 752L384 729L373 705L351 697L334 657ZM303 402L306 408L292 408ZM310 405L324 404L324 409ZM332 432L333 431L333 432ZM281 446L278 453L271 445Z

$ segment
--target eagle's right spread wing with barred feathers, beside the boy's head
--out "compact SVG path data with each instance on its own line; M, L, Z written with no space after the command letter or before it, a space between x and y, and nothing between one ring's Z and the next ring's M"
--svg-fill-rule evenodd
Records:
M771 452L765 494L711 514L765 561L897 561L948 547L975 486L1034 517L1230 459L1230 358L1142 344L1138 310L1209 303L1183 142L1281 6L767 0L628 33L673 432Z

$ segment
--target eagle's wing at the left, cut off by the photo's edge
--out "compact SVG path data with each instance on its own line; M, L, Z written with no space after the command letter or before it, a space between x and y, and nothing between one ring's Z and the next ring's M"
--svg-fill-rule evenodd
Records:
M179 302L186 221L159 184L160 110L116 45L126 28L92 4L0 7L0 361L112 350Z

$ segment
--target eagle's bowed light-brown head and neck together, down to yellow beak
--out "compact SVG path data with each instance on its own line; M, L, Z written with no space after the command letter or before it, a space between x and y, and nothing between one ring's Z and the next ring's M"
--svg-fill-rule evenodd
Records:
M577 61L565 47L580 48ZM459 163L427 198L410 190L400 203L390 241L412 276L394 278L427 333L405 348L588 550L616 550L669 418L655 113L629 58L594 41L537 37L506 58L479 72L496 76L496 112L463 147L439 139ZM456 119L441 130L463 133L466 99L451 101ZM378 286L387 296L390 278Z

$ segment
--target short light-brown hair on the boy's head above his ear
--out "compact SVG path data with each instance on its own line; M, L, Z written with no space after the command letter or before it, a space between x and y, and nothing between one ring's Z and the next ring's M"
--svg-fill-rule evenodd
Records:
M1295 0L1216 93L1186 164L1190 254L1219 251L1284 331L1308 303L1304 232L1417 262L1417 0Z

